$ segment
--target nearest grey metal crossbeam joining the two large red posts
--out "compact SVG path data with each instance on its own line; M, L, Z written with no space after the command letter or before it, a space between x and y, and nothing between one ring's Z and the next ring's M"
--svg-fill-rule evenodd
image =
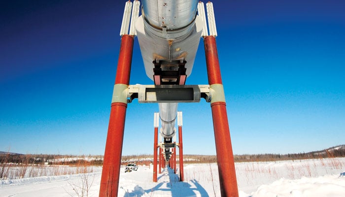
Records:
M209 85L129 85L127 102L139 103L211 101Z

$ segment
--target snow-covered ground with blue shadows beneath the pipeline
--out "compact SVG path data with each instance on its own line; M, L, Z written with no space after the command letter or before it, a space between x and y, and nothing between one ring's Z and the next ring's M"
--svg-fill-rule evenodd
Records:
M101 171L0 180L0 197L77 197L86 185L88 196L98 197ZM240 197L345 197L345 158L237 163L236 173ZM152 165L129 173L122 167L119 197L220 196L216 164L186 164L184 178L165 168L154 183Z

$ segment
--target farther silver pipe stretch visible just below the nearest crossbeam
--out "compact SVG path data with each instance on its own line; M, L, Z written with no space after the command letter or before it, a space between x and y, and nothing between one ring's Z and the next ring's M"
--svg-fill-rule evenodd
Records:
M158 103L159 116L162 123L161 133L164 137L173 137L175 134L175 120L177 103Z

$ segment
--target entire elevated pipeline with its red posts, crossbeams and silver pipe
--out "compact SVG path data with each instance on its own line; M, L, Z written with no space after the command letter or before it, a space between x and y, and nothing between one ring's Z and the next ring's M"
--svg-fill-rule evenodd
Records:
M140 16L138 0L133 3L128 0L125 5L99 196L117 197L128 103L133 99L139 103L158 103L159 113L154 113L153 182L157 182L157 175L166 164L176 173L176 147L179 180L184 181L182 112L177 111L177 105L205 99L212 111L221 196L239 197L212 2L206 3L207 15L204 3L199 0L141 2ZM153 85L129 84L135 37L146 75ZM186 85L200 38L204 39L208 84Z

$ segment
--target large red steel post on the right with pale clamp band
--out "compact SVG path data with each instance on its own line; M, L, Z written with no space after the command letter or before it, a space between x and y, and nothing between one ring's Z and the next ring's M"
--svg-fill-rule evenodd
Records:
M211 110L217 152L220 193L222 197L238 197L239 191L234 156L215 37L205 36L204 45L208 83L210 88L214 90L211 100Z

